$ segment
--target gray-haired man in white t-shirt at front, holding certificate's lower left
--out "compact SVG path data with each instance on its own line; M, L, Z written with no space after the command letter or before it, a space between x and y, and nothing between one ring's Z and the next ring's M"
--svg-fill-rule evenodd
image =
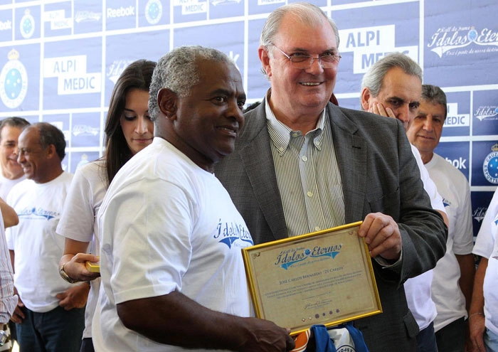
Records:
M253 244L213 175L244 123L242 78L227 55L182 46L154 68L154 141L122 166L97 215L95 351L294 348L287 329L250 317L241 248Z

